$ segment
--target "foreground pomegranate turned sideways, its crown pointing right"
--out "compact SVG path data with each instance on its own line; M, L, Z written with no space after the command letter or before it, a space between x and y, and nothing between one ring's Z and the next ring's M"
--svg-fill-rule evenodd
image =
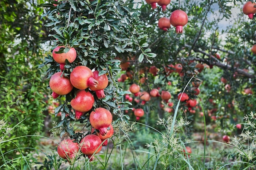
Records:
M98 81L93 78L93 73L87 66L76 66L70 73L70 82L80 90L90 87L97 87Z

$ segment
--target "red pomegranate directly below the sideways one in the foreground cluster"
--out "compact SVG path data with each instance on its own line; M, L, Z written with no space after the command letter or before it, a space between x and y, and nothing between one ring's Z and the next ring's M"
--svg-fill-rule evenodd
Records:
M94 97L90 91L79 90L76 93L76 97L71 100L70 105L74 108L76 119L80 119L83 113L88 112L92 109L94 104Z

